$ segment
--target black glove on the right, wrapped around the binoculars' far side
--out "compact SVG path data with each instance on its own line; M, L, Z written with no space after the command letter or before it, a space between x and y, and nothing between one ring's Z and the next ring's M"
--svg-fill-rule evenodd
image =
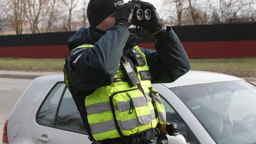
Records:
M129 2L140 4L141 9L149 9L151 12L151 18L149 20L133 21L133 25L141 26L143 29L148 30L150 33L155 33L162 29L163 23L156 12L156 8L152 4L149 2L142 2L140 0L132 0Z

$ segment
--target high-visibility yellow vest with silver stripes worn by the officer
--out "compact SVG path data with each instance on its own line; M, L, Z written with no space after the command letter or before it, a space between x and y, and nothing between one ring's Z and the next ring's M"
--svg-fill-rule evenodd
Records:
M71 53L85 47L93 45L79 46ZM134 49L138 50L146 61L145 54L138 46L134 46ZM85 97L90 133L96 141L136 135L166 121L166 112L158 93L151 87L150 80L142 80L139 73L149 70L147 63L136 68L145 95L138 86L130 87L128 82L119 81L99 87L93 94ZM65 69L64 74L65 83L69 88ZM114 78L125 78L120 66L119 73Z

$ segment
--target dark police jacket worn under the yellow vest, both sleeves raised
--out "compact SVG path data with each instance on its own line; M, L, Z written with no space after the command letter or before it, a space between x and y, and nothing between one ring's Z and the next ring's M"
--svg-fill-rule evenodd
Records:
M69 49L83 44L94 44L89 40L91 37L87 38L88 32L89 28L80 28L69 39ZM102 33L104 35L97 31L90 32L96 40L94 46L73 56L69 54L65 60L70 91L82 118L86 118L85 96L92 94L96 88L108 86L113 82L122 54L126 56L138 40L135 34L130 34L129 30L122 26L110 27L106 34ZM156 40L156 50L140 48L150 67L153 78L151 83L174 82L190 70L188 56L171 27L167 26L165 34L153 37ZM88 130L87 125L86 129Z

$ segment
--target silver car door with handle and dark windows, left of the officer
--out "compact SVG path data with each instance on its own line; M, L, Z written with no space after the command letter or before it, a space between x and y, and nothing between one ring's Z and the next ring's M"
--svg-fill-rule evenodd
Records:
M91 143L64 82L56 83L39 105L29 124L35 144Z

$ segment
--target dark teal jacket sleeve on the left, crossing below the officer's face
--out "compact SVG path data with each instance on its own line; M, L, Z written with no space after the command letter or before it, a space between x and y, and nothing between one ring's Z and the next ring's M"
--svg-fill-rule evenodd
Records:
M93 47L67 56L65 70L69 83L78 90L93 90L110 85L118 71L123 48L130 35L122 26L110 27Z

